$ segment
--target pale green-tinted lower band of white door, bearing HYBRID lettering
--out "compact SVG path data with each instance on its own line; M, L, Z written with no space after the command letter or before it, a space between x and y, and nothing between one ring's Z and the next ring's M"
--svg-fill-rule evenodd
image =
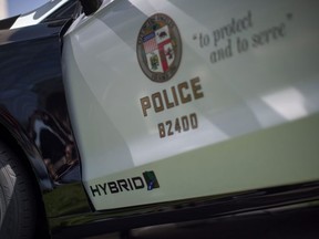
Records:
M318 180L319 152L315 143L318 141L318 134L312 131L318 119L319 115L316 115L234 138L214 147L194 149L90 180L90 187L86 185L89 195L95 208L103 210L186 198L220 197L278 185ZM313 143L305 145L300 150L298 145L309 138ZM290 150L282 152L286 147ZM143 177L145 172L156 174L160 188L148 188L147 179ZM144 185L137 178L142 178ZM131 180L133 188L127 186L130 190L125 190L123 179L127 185ZM134 187L134 184L142 186Z

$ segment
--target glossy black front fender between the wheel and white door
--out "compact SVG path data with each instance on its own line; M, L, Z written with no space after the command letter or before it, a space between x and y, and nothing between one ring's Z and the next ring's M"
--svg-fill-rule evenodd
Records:
M91 211L61 75L60 33L69 20L0 31L0 137L34 175L43 228L45 216Z

